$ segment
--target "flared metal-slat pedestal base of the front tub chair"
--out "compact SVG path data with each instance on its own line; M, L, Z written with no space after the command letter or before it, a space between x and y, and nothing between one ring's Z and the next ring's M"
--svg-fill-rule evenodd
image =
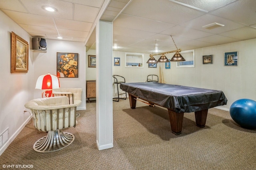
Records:
M67 147L74 141L74 139L75 136L73 134L62 132L62 129L49 131L47 136L36 141L33 148L36 152L54 152Z

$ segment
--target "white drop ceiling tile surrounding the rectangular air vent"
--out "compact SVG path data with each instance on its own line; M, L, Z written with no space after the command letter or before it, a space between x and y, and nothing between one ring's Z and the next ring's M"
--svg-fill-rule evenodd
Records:
M223 27L218 27L218 28L214 28L212 30L208 30L206 28L202 28L202 26L206 26L208 24L212 24L214 22L217 22L219 24L223 24L225 26ZM201 30L204 32L209 32L212 34L219 34L222 32L227 32L230 30L234 30L234 29L238 29L238 28L242 28L244 27L243 24L239 24L230 20L226 20L224 18L218 17L216 15L213 14L205 14L202 15L194 20L190 20L189 22L184 22L182 24L180 24L181 26L186 26L189 28L194 28L196 30Z

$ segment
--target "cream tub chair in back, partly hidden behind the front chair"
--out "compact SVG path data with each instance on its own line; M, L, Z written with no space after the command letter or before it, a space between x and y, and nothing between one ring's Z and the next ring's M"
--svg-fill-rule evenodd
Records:
M82 88L60 88L53 89L52 93L54 96L66 96L70 104L82 103ZM79 113L76 113L76 118L80 116Z

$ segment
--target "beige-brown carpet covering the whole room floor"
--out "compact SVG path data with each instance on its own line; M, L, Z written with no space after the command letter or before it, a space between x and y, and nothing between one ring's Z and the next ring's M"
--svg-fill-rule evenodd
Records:
M96 103L78 111L78 125L64 131L74 142L38 153L33 144L46 132L27 125L0 156L0 169L38 170L256 170L256 130L237 125L228 111L209 109L206 127L184 113L182 134L171 132L167 109L137 102L113 102L114 148L96 146ZM32 165L33 168L2 168Z

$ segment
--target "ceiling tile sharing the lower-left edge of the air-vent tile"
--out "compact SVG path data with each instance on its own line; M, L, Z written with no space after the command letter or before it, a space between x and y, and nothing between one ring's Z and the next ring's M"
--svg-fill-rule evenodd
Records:
M161 32L161 34L167 34L167 35L183 37L188 39L198 39L198 38L203 38L203 37L213 35L212 33L209 33L209 32L204 32L204 31L193 29L193 28L178 26L178 25Z

